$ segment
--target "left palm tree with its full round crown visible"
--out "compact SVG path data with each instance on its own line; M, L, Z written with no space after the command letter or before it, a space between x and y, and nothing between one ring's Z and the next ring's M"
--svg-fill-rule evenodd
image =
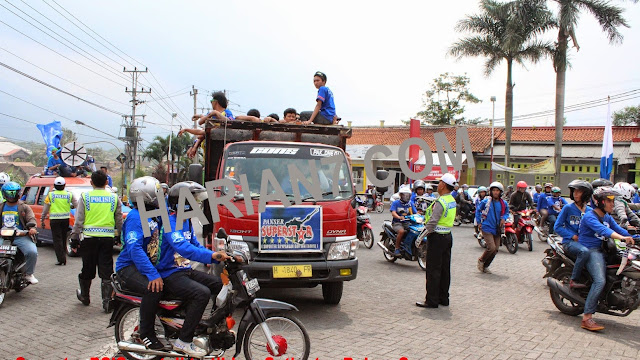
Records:
M481 13L460 20L456 30L477 35L460 39L449 49L449 54L458 57L483 56L485 75L489 76L504 60L507 63L507 91L505 95L505 166L509 166L511 151L511 125L513 122L513 63L538 62L550 55L552 45L538 39L546 30L555 26L551 12L543 2L518 0L501 3L483 0Z

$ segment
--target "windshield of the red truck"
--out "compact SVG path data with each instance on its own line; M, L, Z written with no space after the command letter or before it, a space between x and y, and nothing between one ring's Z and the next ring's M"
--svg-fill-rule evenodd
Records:
M341 156L340 163L322 163L322 159L330 156ZM302 182L299 182L300 195L303 199L340 200L353 196L353 184L351 173L344 156L344 153L336 148L322 146L299 146L299 145L260 145L260 144L234 144L228 148L224 161L224 178L231 179L235 185L235 194L243 196L243 189L240 186L241 174L247 175L249 191L252 198L260 196L260 184L264 170L271 170L278 180L280 187L287 196L293 196L291 179L288 166L293 164L305 176L307 181L314 184L314 177L311 174L311 164L315 164L318 171L319 187L322 198L315 198L306 189ZM337 169L336 169L337 168ZM332 192L334 181L338 182L339 193ZM225 193L230 189L225 188ZM269 193L273 193L273 187L269 186Z

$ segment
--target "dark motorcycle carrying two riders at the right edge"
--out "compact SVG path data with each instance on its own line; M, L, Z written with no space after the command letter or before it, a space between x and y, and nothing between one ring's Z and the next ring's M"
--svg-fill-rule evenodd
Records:
M547 285L551 301L560 312L575 316L584 310L589 288L592 284L588 271L583 271L580 282L584 289L571 289L569 282L575 258L564 252L559 237L548 237L551 247L542 263L547 269ZM607 260L606 284L598 301L597 312L627 316L640 305L640 248L608 239L603 242Z

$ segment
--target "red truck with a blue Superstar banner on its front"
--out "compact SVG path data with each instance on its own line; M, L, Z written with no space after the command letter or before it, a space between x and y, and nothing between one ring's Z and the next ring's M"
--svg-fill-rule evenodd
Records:
M261 286L321 285L324 301L339 303L344 282L354 280L358 271L355 191L344 153L351 129L212 125L206 128L205 180L231 180L233 186L217 193L233 194L243 216L218 205L220 221L205 226L203 235L214 250L221 250L225 242L212 234L224 228L229 246L250 255L245 271ZM290 176L291 167L299 171L296 176ZM273 200L274 194L286 201ZM271 200L263 200L260 212L261 197L267 196Z

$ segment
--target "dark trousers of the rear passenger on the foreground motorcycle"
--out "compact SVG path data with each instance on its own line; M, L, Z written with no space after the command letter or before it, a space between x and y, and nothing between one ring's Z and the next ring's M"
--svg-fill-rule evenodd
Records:
M122 285L128 290L142 294L142 303L140 304L140 337L155 334L154 324L156 320L156 312L158 311L158 303L162 298L162 291L152 292L147 289L149 279L140 274L135 265L129 265L118 271L118 277Z

